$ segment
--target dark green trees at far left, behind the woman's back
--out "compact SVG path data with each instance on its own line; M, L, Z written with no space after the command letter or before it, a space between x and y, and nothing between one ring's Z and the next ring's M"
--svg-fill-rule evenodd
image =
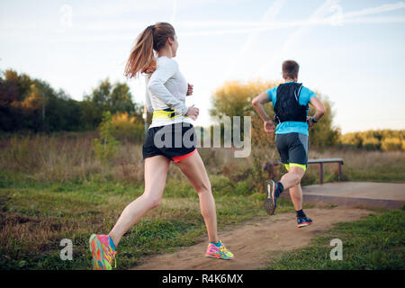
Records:
M45 81L7 69L0 75L0 130L95 130L104 111L118 115L119 120L126 115L131 121L143 121L142 107L131 98L127 84L112 84L106 78L83 101L76 101Z

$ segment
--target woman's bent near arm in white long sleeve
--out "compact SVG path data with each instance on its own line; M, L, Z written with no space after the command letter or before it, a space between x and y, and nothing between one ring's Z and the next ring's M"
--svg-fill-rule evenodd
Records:
M156 71L150 76L148 89L163 103L166 103L167 106L170 106L175 111L181 112L182 115L185 115L188 111L188 107L185 106L184 102L175 98L175 96L171 94L164 85L171 76L175 75L177 70L178 65L174 59L166 60L166 63L157 67Z

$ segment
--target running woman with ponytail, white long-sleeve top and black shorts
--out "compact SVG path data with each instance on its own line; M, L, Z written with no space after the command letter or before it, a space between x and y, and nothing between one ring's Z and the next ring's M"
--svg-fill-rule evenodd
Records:
M90 237L93 268L96 270L112 269L112 261L116 257L122 235L146 212L159 205L171 161L176 163L193 184L200 198L200 209L209 238L205 256L225 260L234 258L218 238L211 183L202 158L195 148L194 129L189 120L196 120L199 110L193 106L185 106L185 96L193 93L193 85L187 84L174 59L177 48L178 41L173 26L169 23L156 23L139 34L130 53L125 76L132 78L140 73L146 76L146 103L148 111L153 112L152 123L142 147L145 191L122 211L110 233L93 234Z

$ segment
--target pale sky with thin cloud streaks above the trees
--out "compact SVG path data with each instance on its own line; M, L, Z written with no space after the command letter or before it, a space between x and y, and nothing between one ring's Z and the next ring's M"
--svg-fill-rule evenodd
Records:
M131 0L0 2L0 69L47 81L83 100L100 81L145 80L125 63L148 25L174 25L175 60L209 125L211 95L227 80L282 80L285 59L299 82L328 96L343 133L405 129L405 2L387 0ZM252 95L255 96L255 95Z

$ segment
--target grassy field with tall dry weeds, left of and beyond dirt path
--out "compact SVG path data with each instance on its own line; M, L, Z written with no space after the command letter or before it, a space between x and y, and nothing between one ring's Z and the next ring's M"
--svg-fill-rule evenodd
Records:
M144 190L141 144L122 142L116 157L101 162L91 145L95 136L0 139L0 269L90 268L89 236L108 233ZM263 183L268 174L261 165L276 159L275 150L265 145L246 158L235 158L230 148L200 148L199 153L210 176L219 229L266 215ZM344 158L342 180L405 178L405 152L310 148L310 158L322 157ZM279 179L285 170L276 170ZM194 188L176 166L167 179L162 204L122 238L118 268L206 238ZM337 180L337 166L324 166L324 182ZM318 181L318 166L310 166L302 184ZM277 212L284 211L293 211L293 205L280 199ZM73 241L73 261L60 260L62 238Z

